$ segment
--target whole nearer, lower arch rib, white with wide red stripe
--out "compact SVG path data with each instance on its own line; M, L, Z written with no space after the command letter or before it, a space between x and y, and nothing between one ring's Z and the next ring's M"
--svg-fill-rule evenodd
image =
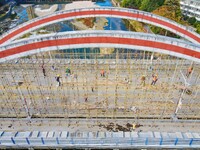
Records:
M74 31L23 39L0 46L0 62L39 52L84 47L119 47L164 53L200 63L200 45L124 31Z

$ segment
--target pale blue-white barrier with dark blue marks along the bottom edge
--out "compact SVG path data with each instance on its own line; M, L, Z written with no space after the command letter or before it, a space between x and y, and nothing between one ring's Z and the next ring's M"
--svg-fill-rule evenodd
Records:
M200 133L0 131L0 148L5 146L200 148Z

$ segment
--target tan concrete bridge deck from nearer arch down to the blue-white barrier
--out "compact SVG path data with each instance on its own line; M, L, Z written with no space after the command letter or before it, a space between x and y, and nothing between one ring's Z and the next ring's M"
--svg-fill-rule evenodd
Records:
M152 63L144 59L127 59L142 57L143 52L98 60L75 59L83 56L78 53L66 55L68 59L56 59L64 56L57 52L44 53L44 56L48 57L49 54L52 59L41 59L38 54L30 59L1 63L0 117L3 130L63 130L67 125L73 131L91 128L105 131L107 128L104 125L109 126L112 122L123 127L125 123L141 124L138 131L199 130L198 64L194 63L194 72L187 79L192 94L184 92L177 113L179 119L173 120L184 87L181 72L185 75L190 61L172 61L166 59L168 57L165 55L158 57L156 54L157 58ZM95 55L88 53L85 57ZM145 55L151 56L149 52ZM126 59L120 59L124 57ZM42 72L42 64L46 77ZM52 65L56 70L52 70ZM66 78L66 66L77 75L77 79L73 76ZM102 69L106 71L105 77L100 76ZM153 73L159 76L155 86L150 85ZM56 86L57 74L62 77L60 87ZM145 86L140 84L143 74L146 75ZM32 117L32 121L25 119L27 117ZM56 121L52 121L56 118ZM99 124L99 120L102 124Z

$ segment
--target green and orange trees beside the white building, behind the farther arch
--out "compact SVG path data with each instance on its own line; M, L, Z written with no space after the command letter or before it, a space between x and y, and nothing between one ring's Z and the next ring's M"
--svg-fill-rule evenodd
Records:
M196 28L196 32L200 33L200 22L197 21L195 17L189 18L183 16L179 2L179 0L122 0L121 6L152 12L159 16L174 20L180 24L193 26ZM136 23L134 24L136 25ZM177 37L175 34L159 27L151 26L151 30L156 34Z

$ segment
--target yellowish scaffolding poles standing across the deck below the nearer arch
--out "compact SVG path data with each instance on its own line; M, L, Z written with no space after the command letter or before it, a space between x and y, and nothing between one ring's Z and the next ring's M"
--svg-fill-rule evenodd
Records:
M186 77L191 64L194 70ZM0 65L2 118L200 118L200 67L188 60L130 49L111 54L73 49ZM56 84L57 74L61 86ZM154 74L158 81L151 85ZM142 75L145 86L140 84Z

